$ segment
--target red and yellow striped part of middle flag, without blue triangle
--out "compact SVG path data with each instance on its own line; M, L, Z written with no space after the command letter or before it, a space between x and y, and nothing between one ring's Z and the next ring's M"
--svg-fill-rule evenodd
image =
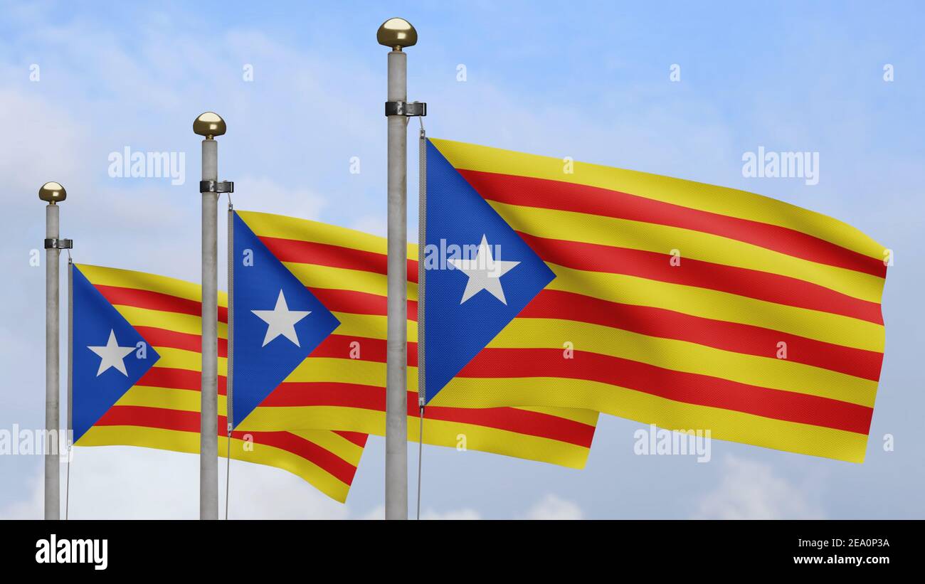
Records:
M386 239L269 213L238 212L339 326L236 427L385 434ZM417 246L409 245L410 258ZM418 440L417 262L408 262L408 433ZM425 444L583 468L598 412L575 408L426 408Z

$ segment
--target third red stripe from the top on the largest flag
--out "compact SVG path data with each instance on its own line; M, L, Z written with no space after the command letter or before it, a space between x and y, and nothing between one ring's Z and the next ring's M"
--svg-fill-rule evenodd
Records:
M783 341L787 344L787 360L871 381L880 379L883 361L883 354L877 351L843 347L750 324L620 304L559 290L542 290L517 318L589 322L769 359L777 359L777 344Z

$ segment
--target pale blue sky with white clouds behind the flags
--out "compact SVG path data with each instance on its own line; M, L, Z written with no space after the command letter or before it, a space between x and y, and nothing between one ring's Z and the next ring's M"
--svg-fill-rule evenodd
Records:
M409 97L428 103L431 136L751 190L831 214L895 251L863 465L719 441L709 464L635 456L640 425L605 416L581 471L425 447L431 517L925 517L925 10L806 5L0 2L0 428L43 424L43 270L29 264L43 238L36 189L53 179L68 188L63 235L78 261L195 280L191 121L214 110L228 121L219 174L235 181L239 208L382 234L387 51L375 35L402 16L420 35L408 50ZM246 64L253 82L242 80ZM819 152L819 184L742 176L743 153L759 146ZM109 153L125 147L186 152L186 183L108 176ZM893 452L882 449L886 433ZM283 471L235 463L232 517L375 516L383 453L371 439L346 506ZM195 517L197 465L79 449L72 517ZM39 517L40 487L39 458L0 457L0 517Z

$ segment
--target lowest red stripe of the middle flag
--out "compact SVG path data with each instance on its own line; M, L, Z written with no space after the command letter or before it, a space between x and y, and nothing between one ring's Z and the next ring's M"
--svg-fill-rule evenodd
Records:
M359 383L286 382L268 395L261 408L328 406L385 413L386 389ZM416 418L417 393L408 392L408 416ZM591 447L594 426L550 414L517 408L446 408L428 406L428 420L444 420L538 436Z

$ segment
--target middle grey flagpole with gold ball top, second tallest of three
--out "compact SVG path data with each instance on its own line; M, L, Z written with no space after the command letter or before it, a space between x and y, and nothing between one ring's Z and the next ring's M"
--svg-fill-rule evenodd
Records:
M199 518L218 518L218 142L225 120L206 112L192 123L203 140L203 372L199 435Z

